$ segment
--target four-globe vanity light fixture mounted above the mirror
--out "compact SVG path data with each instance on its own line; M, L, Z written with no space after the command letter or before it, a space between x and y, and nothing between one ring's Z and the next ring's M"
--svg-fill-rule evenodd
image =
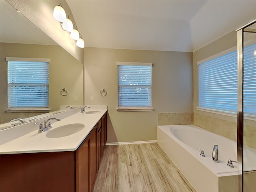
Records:
M69 17L66 18L66 12L62 8L61 4L55 6L53 16L56 20L60 22L60 25L64 31L71 32L70 38L77 40L76 46L84 48L84 40L82 39L82 35L78 32L78 30L76 29L76 25L72 23ZM73 25L75 26L75 29L73 28Z

